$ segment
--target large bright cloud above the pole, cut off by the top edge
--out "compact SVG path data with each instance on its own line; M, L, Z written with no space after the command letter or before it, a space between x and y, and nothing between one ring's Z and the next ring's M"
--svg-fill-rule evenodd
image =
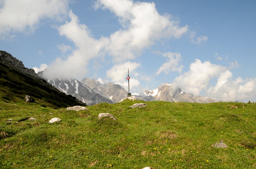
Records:
M110 35L110 44L106 47L116 62L134 59L157 40L180 38L188 31L188 25L180 27L171 15L160 15L154 3L98 0L95 6L115 13L123 26Z

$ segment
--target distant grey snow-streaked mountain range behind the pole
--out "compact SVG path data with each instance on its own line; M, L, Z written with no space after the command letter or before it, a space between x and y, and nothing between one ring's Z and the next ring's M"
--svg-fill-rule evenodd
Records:
M128 93L122 86L111 82L101 84L100 81L90 78L83 78L81 81L78 81L77 79L52 80L44 77L43 72L39 72L38 75L60 91L76 97L87 105L93 105L100 102L116 103L126 97ZM138 100L144 101L215 102L215 100L211 98L186 93L179 87L168 83L164 83L153 90L145 90L142 95L136 94L136 97Z

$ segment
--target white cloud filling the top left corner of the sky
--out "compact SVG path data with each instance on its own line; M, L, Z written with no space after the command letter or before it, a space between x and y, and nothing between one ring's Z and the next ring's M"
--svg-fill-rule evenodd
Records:
M69 0L4 0L0 8L0 37L13 32L34 31L44 18L61 20L68 13Z

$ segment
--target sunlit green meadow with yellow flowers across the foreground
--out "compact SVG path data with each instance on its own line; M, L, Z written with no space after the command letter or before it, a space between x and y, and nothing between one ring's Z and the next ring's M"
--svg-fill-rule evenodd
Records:
M76 112L0 101L0 168L256 167L256 104L154 101L130 108L139 102ZM117 121L98 120L99 113ZM62 121L49 124L54 117ZM228 148L212 147L220 141Z

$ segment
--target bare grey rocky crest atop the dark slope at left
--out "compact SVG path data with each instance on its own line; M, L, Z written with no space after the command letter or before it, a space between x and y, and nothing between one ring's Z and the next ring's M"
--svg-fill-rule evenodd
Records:
M4 63L5 65L12 67L18 72L21 72L22 74L27 74L30 76L33 76L36 79L41 79L37 76L34 69L28 69L23 65L23 62L13 57L10 53L7 53L5 51L0 51L0 61Z

